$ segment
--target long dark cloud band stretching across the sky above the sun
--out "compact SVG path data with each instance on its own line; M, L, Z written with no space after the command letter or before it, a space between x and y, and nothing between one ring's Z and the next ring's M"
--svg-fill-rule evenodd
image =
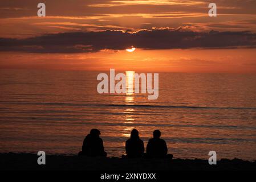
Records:
M120 50L129 46L141 49L234 48L255 47L251 32L194 32L178 30L66 32L26 39L0 39L0 51L34 53L97 52Z

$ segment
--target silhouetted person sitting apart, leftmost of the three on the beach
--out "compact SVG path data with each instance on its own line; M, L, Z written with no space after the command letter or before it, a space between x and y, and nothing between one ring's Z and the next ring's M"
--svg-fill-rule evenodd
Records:
M107 156L104 151L103 140L100 138L100 130L92 129L84 138L82 151L78 155Z

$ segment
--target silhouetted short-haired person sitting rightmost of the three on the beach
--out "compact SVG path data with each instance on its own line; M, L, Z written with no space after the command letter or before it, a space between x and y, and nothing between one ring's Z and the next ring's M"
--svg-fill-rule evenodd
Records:
M172 154L167 155L168 148L165 140L160 138L161 131L155 130L153 138L148 140L147 154L148 158L173 158Z

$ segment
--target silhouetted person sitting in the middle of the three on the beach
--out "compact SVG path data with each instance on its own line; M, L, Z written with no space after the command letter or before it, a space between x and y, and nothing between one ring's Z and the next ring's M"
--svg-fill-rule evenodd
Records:
M139 137L139 131L133 129L131 137L125 142L127 158L141 158L144 154L144 143ZM124 156L123 156L124 157Z

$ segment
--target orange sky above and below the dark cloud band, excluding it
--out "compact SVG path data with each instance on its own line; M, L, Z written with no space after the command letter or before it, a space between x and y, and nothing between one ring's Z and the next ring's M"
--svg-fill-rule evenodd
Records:
M256 33L256 1L216 0L214 2L217 4L218 16L213 18L208 16L209 2L211 1L44 1L46 3L44 18L36 16L38 8L35 1L1 2L0 38L5 38L2 39L5 41L1 42L0 39L0 48L6 47L6 42L9 41L7 38L26 39L60 32L105 30L136 32L168 27L169 31L214 30ZM245 39L247 38L251 36ZM5 51L5 48L2 48L0 68L96 71L115 68L144 72L256 73L256 51L253 48L256 42L255 36L252 39L248 45L243 43L241 48L231 49L224 46L216 49L209 48L208 45L207 49L202 49L204 47L166 49L157 46L152 48L151 45L150 49L141 46L132 53L123 48L111 49L111 45L110 48L106 45L106 49L100 48L97 51L84 53L65 51L36 53L15 51L13 48ZM232 39L229 41L233 42ZM156 41L155 43L160 44ZM24 47L29 47L29 44Z

